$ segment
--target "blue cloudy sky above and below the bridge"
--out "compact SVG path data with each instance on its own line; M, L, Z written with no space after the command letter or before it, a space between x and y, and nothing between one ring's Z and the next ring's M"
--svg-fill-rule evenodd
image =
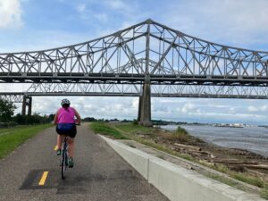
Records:
M268 51L267 0L0 0L0 52L68 46L149 18L214 43ZM13 91L21 88L27 86L14 85ZM9 90L0 84L0 91ZM62 98L34 97L32 111L55 113ZM67 98L82 117L138 115L138 97ZM153 119L268 124L267 112L267 100L152 97Z

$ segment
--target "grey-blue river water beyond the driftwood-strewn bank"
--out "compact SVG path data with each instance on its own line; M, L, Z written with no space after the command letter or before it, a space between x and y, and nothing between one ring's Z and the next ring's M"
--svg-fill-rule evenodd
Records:
M161 126L164 130L176 130L178 126ZM222 147L242 148L268 157L268 129L264 127L214 127L180 125L192 136L196 136Z

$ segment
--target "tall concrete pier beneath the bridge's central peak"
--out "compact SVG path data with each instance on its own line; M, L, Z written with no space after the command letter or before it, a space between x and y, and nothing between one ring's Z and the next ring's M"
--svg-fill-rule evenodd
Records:
M138 124L143 126L153 125L151 121L151 85L149 81L144 83L142 96L139 96Z

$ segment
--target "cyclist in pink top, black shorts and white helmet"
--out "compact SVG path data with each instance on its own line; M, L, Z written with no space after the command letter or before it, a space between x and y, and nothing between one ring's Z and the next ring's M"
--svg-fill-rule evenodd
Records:
M63 136L68 136L68 145L69 145L69 158L68 165L70 168L73 167L73 149L74 149L74 138L76 136L76 123L80 124L81 118L80 114L70 106L71 102L68 99L62 100L62 107L58 109L57 113L54 116L54 124L56 125L57 136L57 155L61 155ZM75 120L76 117L76 120Z

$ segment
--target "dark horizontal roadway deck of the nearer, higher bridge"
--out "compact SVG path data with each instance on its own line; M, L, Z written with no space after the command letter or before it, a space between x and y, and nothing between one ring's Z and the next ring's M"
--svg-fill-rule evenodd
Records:
M145 74L131 73L81 73L81 72L0 72L0 81L6 83L113 83L142 84ZM239 86L267 86L268 76L260 75L201 75L201 74L150 74L150 83L158 84L207 84Z

